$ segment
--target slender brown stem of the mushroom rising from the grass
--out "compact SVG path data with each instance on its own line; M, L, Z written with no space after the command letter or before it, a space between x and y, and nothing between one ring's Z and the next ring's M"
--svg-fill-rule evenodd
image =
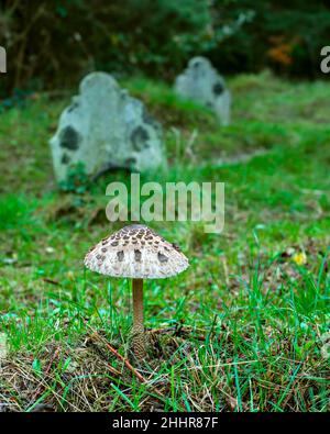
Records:
M139 360L145 357L145 335L143 325L143 279L133 279L133 353Z

